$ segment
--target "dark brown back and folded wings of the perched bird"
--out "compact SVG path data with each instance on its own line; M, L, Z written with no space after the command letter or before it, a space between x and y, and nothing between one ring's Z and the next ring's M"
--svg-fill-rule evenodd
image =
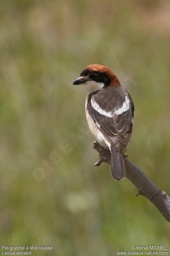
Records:
M92 93L89 95L87 109L89 115L92 116L95 124L107 137L111 145L118 148L121 153L125 153L132 132L134 105L128 92L123 87L120 89L122 91L117 92L118 95L115 93L115 88L108 88L107 91L103 89L97 93ZM127 111L116 115L115 111L123 105L125 95L129 97L129 108ZM100 104L101 98L103 100ZM101 105L101 109L104 110L105 114L101 114L93 108L91 99ZM106 115L107 113L110 113L110 115Z

